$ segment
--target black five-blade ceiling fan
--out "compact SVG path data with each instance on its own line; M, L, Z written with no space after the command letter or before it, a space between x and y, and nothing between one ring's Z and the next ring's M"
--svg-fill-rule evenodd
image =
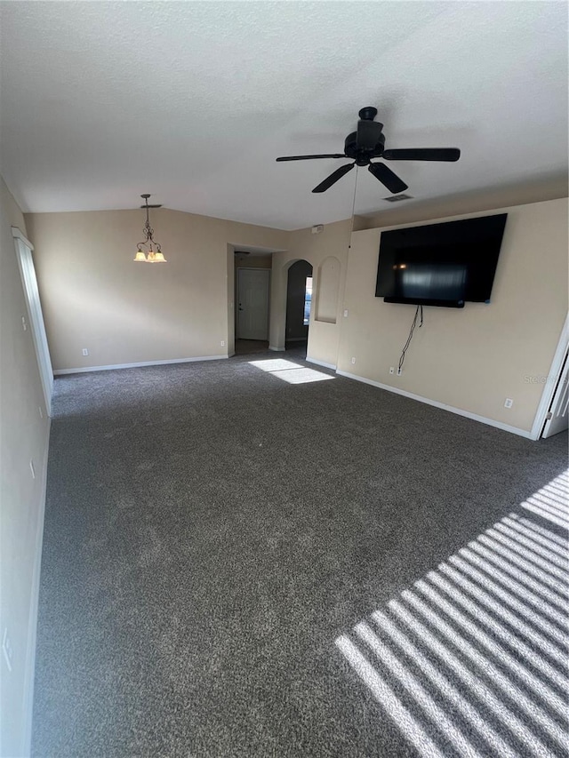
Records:
M355 165L367 166L367 170L381 181L389 189L389 192L404 192L407 189L405 181L399 179L385 164L373 164L372 158L381 158L386 161L458 161L461 157L459 148L402 148L396 150L385 149L385 134L382 133L383 124L373 121L377 116L377 108L368 106L359 112L357 131L351 132L344 142L343 153L332 153L324 156L284 156L276 158L277 161L311 161L315 158L352 158L353 163L341 166L331 173L329 177L315 187L313 192L325 192L332 187L345 174L350 172Z

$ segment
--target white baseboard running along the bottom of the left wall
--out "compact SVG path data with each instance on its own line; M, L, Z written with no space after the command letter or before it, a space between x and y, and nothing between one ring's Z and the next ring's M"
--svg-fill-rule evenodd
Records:
M28 612L28 645L26 648L26 669L24 673L24 720L21 736L21 755L29 755L32 740L32 714L34 710L34 679L36 674L37 615L39 604L39 578L42 564L42 547L44 543L45 496L47 493L47 460L49 457L50 428L52 419L47 417L44 463L42 470L42 495L39 503L36 525L36 554L32 571L32 586Z

